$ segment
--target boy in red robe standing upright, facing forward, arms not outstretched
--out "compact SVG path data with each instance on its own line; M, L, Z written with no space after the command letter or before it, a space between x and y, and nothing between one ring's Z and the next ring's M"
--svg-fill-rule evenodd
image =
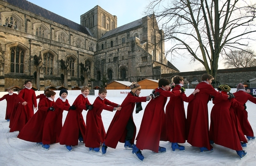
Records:
M21 131L37 109L36 93L32 89L32 81L25 81L25 88L17 95L17 102L20 102L14 117L14 123L10 132Z

